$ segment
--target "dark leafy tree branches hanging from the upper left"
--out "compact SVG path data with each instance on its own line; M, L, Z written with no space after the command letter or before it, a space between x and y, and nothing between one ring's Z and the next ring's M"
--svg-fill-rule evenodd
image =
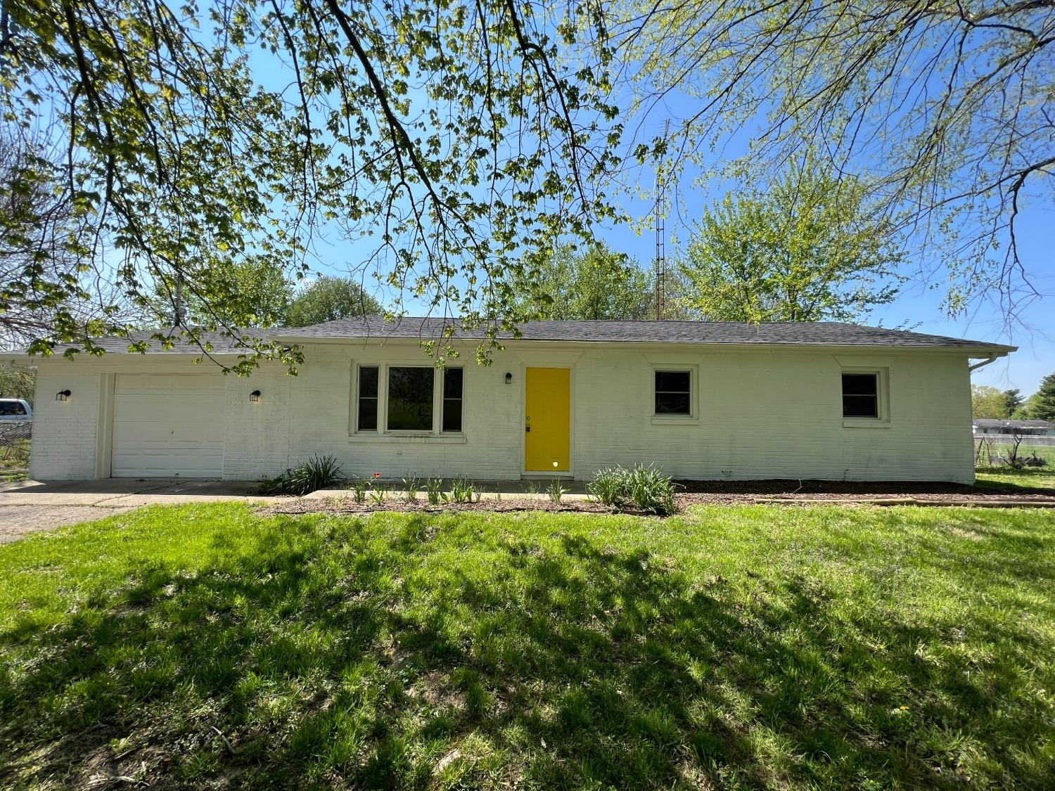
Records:
M618 160L611 51L586 66L557 57L605 35L596 8L68 0L3 12L0 117L28 129L54 111L70 154L57 184L89 230L71 251L117 251L110 275L140 310L155 309L155 284L179 284L206 329L291 365L295 351L238 331L256 306L211 276L218 266L294 276L325 229L360 240L357 275L494 336L517 317L507 274L613 214L599 188ZM271 57L253 72L261 50ZM53 324L35 350L73 340Z

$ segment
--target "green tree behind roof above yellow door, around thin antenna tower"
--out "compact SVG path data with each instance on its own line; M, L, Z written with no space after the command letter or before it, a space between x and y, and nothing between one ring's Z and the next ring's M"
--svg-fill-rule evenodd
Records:
M533 319L647 319L652 309L650 276L603 244L586 251L558 247L516 292L523 314Z

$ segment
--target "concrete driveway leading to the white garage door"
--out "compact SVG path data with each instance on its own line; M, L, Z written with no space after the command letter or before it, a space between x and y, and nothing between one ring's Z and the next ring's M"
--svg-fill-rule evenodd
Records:
M0 483L0 543L143 505L257 500L252 481L138 479Z

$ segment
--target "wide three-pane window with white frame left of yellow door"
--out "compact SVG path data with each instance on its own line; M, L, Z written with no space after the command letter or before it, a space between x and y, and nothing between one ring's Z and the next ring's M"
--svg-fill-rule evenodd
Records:
M463 371L422 365L356 369L356 432L461 433Z

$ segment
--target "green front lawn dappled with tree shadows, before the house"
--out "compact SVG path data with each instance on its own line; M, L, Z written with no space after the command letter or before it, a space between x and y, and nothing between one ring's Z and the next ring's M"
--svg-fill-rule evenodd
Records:
M1053 561L1024 509L148 508L0 546L0 786L1051 788Z

